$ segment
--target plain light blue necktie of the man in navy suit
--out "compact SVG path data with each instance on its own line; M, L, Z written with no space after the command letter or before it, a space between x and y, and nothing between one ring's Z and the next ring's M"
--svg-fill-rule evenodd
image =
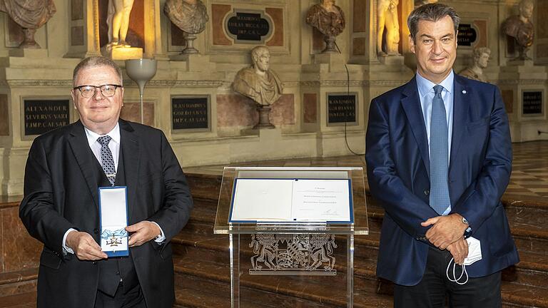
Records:
M432 120L430 120L430 207L438 214L450 206L448 180L447 118L442 99L442 86L434 87Z

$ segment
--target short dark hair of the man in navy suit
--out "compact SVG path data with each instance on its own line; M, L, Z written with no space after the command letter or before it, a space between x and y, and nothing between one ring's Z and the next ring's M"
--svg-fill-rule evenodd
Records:
M419 31L419 21L439 21L444 19L445 16L450 16L453 21L453 26L455 26L455 34L459 29L460 17L457 14L457 11L451 6L446 4L433 3L425 4L423 6L417 7L414 9L409 17L407 17L407 26L413 41L416 41L417 32ZM456 38L455 38L456 39Z

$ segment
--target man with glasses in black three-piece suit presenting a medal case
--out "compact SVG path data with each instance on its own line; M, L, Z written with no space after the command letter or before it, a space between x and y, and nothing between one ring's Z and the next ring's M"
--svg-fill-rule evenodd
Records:
M86 58L73 73L80 120L34 140L19 216L44 243L38 307L172 307L171 238L193 201L161 130L120 119L120 68ZM108 168L111 168L109 170ZM129 257L98 245L98 188L127 187Z

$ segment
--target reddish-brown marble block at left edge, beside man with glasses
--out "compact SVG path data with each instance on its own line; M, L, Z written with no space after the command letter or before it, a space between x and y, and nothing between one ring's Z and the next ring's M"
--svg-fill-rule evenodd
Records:
M19 207L7 207L1 213L4 272L37 267L42 244L26 232L19 219Z

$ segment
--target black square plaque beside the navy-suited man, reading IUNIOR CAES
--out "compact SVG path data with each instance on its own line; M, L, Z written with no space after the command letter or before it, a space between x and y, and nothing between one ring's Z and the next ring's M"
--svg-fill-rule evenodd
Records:
M328 124L357 124L356 101L357 93L328 94Z

